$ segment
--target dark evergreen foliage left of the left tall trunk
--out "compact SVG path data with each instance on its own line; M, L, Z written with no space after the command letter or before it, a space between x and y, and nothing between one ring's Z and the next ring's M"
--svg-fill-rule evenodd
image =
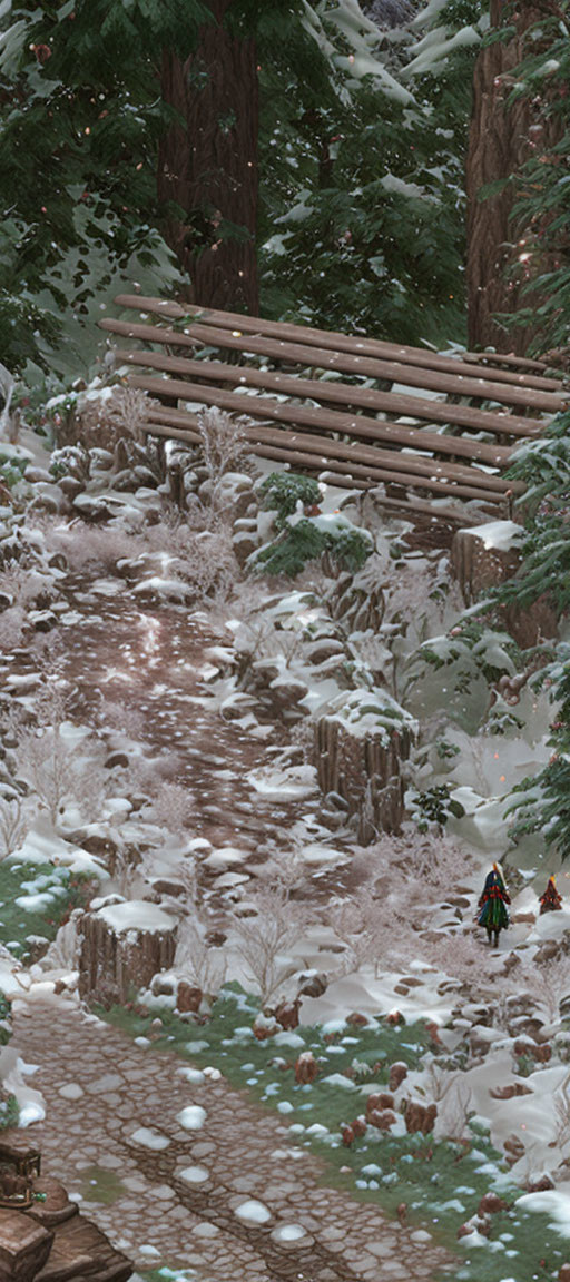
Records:
M92 327L90 304L117 288L117 272L176 276L157 229L167 117L154 51L175 40L176 15L187 45L207 14L199 0L1 6L0 335L12 369L54 368L65 319Z

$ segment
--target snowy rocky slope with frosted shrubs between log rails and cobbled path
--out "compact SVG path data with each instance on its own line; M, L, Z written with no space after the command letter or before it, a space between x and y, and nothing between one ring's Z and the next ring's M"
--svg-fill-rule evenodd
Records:
M257 551L275 537L272 517L250 477L234 473L207 526L205 573L204 531L168 515L166 481L118 487L108 459L105 470L94 458L71 500L69 487L42 478L49 459L35 433L6 449L27 451L39 477L19 483L21 512L0 512L1 836L6 867L28 878L15 899L21 944L26 914L53 910L53 883L33 882L35 865L51 865L94 878L90 913L117 937L136 946L141 933L175 932L172 967L141 994L157 1011L176 1008L185 981L202 990L203 1014L226 978L261 991L268 1009L300 991L302 1027L345 1028L354 1011L428 1020L433 1054L395 1108L411 1091L435 1100L436 1138L465 1137L471 1114L484 1119L522 1188L552 1185L517 1205L562 1223L570 906L539 915L557 869L535 841L514 846L505 814L512 787L547 759L552 709L526 686L516 717L492 732L497 690L476 655L447 662L463 614L448 550L408 546L412 523L372 517L353 491L324 486L308 519L362 529L371 555L344 577L309 563L297 582L264 579L234 558L232 505L243 512L245 495ZM87 510L98 524L85 523ZM511 527L484 527L485 546L512 544ZM424 662L430 647L445 663ZM399 832L383 832L376 809L363 840L341 770L322 795L324 722L361 763L363 745L385 751L408 737ZM365 792L361 810L368 803ZM508 932L489 949L474 918L494 860L512 905ZM0 987L14 1009L33 1018L46 995L78 1001L81 922L80 910L23 964L1 936ZM315 995L303 992L316 978ZM276 1045L280 1036L294 1037L277 1033ZM49 1100L17 1051L0 1055L28 1124ZM178 1120L196 1129L200 1117L189 1108ZM134 1138L158 1145L144 1127ZM199 1183L200 1167L184 1178ZM236 1214L255 1220L255 1206L244 1200Z

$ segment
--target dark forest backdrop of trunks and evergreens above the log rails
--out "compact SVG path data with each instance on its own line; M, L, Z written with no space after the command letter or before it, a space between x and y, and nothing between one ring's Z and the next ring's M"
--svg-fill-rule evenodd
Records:
M126 281L394 341L564 346L566 9L4 0L4 364L51 390L85 373Z

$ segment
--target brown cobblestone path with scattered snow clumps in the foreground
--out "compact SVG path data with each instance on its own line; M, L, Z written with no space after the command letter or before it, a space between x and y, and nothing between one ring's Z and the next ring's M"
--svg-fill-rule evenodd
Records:
M454 1276L428 1233L324 1187L318 1159L291 1144L282 1119L223 1078L190 1070L190 1081L175 1055L63 1001L28 1009L14 1017L13 1045L40 1065L32 1083L48 1106L30 1137L45 1173L83 1196L85 1213L137 1269L186 1268L195 1282ZM271 1213L264 1223L240 1217L250 1200Z

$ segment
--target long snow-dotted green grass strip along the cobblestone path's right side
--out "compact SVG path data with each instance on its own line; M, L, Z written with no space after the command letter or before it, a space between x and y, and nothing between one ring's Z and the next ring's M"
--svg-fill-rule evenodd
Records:
M162 1006L148 1014L122 1006L96 1013L134 1037L150 1037L155 1051L175 1051L198 1068L220 1068L232 1086L276 1109L290 1127L290 1138L325 1159L327 1185L374 1201L388 1214L406 1203L408 1223L428 1228L458 1255L454 1282L546 1282L557 1276L567 1256L562 1238L547 1215L517 1211L521 1190L476 1119L469 1145L374 1127L350 1147L341 1144L340 1126L366 1110L370 1091L386 1087L394 1060L421 1068L433 1049L424 1023L394 1027L377 1018L365 1028L352 1028L338 1020L258 1041L252 1031L258 1009L255 997L234 983L225 986L205 1024L189 1023ZM163 1020L158 1036L150 1028L157 1014ZM298 1085L293 1072L304 1050L312 1050L320 1064L309 1086ZM476 1214L488 1192L497 1192L510 1209L492 1217L492 1235L484 1245L458 1242L457 1229Z

